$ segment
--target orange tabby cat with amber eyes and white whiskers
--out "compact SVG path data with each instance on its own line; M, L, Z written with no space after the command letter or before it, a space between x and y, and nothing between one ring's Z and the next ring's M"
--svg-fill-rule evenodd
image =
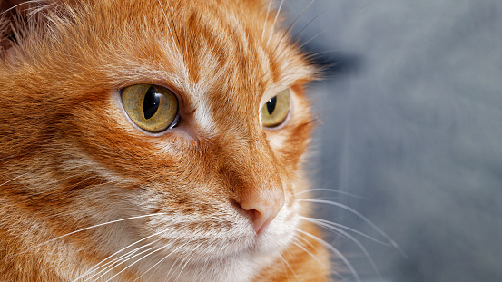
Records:
M0 281L330 279L277 5L0 3Z

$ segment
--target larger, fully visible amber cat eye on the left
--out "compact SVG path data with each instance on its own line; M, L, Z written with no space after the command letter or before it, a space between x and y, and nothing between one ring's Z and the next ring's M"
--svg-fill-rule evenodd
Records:
M153 84L136 84L123 88L123 108L144 131L162 132L178 122L178 100L169 89Z

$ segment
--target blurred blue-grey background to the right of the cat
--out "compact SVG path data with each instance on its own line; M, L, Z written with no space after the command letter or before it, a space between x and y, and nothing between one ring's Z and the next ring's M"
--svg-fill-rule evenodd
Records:
M282 8L292 22L309 2ZM502 1L317 0L298 33L329 69L310 86L311 177L340 192L316 198L358 210L405 254L352 233L374 270L331 234L360 280L502 281ZM347 209L317 207L385 240Z

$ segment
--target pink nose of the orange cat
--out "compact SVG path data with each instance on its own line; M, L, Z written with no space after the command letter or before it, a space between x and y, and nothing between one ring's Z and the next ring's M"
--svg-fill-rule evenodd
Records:
M248 213L254 230L259 234L269 226L284 205L284 192L282 190L255 191L236 203Z

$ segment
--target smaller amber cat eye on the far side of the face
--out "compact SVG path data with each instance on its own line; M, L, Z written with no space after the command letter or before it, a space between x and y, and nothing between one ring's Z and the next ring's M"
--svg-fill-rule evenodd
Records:
M261 109L261 122L264 127L274 128L281 125L290 113L290 89L279 92Z

